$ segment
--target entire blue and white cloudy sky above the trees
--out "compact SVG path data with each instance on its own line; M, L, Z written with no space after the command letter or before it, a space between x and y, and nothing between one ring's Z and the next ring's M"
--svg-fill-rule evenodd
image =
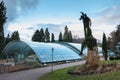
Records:
M5 35L18 30L21 40L31 40L36 29L49 28L58 39L65 25L73 35L82 38L80 12L92 20L93 35L102 39L120 24L120 0L3 0L7 7Z

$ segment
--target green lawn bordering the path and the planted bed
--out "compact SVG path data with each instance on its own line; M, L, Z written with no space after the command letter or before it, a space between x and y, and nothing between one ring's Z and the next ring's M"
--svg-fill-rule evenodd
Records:
M118 63L119 61L102 61L102 64ZM104 74L96 75L70 75L67 71L74 69L75 67L69 67L61 70L54 71L53 74L49 73L38 80L120 80L120 71L108 72Z

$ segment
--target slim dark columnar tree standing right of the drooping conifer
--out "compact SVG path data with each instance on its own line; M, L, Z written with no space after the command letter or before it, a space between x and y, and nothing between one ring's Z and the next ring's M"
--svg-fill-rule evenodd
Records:
M103 52L103 56L104 56L105 60L107 60L107 57L108 57L107 53L108 53L108 51L107 51L107 40L106 40L105 33L103 33L102 52Z

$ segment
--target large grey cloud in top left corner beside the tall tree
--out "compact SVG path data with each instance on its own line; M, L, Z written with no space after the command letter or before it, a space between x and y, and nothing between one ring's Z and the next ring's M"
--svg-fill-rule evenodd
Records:
M0 0L2 1L2 0ZM29 14L30 11L35 10L35 8L39 4L39 0L3 0L5 2L5 6L7 8L7 22L4 26L5 35L10 33L11 31L8 31L9 26L13 24L15 26L15 23L17 23L17 19L19 19L24 14ZM21 24L17 24L16 29L19 29ZM19 27L18 27L19 26ZM14 30L14 29L13 29Z

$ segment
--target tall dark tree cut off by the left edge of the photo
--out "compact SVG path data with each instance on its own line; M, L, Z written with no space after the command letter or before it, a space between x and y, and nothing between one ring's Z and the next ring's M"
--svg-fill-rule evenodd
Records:
M2 51L2 49L4 48L4 24L7 20L6 17L6 7L4 5L4 2L1 1L0 2L0 53Z

